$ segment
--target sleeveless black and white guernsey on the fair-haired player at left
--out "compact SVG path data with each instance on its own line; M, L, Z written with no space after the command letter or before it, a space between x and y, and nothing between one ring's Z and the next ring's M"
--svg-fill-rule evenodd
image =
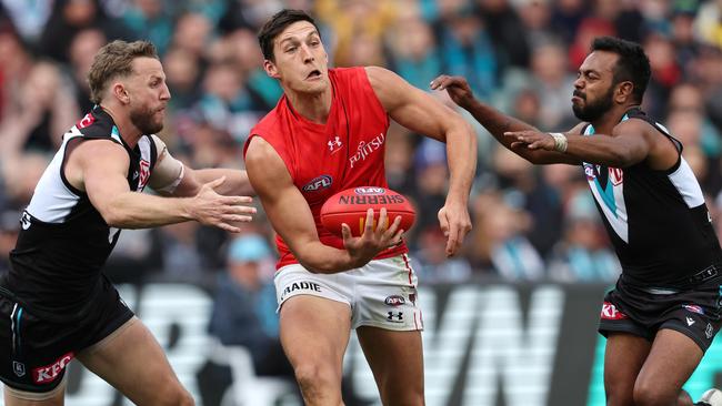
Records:
M0 285L0 294L49 319L80 319L91 311L93 298L101 294L101 268L120 235L64 175L69 151L91 140L126 149L131 191L142 192L156 165L152 138L141 136L131 149L99 106L63 135L22 214L18 243L10 252L11 268Z

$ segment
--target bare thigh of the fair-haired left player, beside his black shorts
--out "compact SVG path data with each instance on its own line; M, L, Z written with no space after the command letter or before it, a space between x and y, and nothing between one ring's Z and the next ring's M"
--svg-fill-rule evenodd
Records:
M78 361L138 405L183 392L162 347L137 317L83 349Z

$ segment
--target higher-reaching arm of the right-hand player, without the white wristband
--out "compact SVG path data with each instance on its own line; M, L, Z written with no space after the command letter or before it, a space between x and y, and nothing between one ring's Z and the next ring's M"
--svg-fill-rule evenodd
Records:
M514 131L539 131L534 126L507 115L489 104L482 103L474 98L471 87L462 77L450 77L442 74L431 81L431 89L445 90L449 97L462 109L481 123L493 136L518 155L534 164L569 163L576 165L580 162L555 151L529 150L521 144L514 144L513 140L504 136L504 133Z

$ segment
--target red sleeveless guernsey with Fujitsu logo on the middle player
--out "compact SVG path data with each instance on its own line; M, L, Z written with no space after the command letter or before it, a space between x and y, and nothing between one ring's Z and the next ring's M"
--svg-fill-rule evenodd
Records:
M344 189L388 187L383 156L389 115L371 88L364 68L330 69L329 80L333 99L325 124L301 116L283 95L251 130L245 148L253 136L273 146L309 203L321 242L343 248L343 240L321 224L321 206ZM281 254L277 267L298 263L280 236L277 245ZM383 251L377 258L405 252L408 248L402 244Z

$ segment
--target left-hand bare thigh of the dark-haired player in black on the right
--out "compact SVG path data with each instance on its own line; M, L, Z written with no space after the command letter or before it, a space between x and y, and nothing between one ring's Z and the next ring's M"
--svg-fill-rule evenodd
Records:
M652 343L629 333L610 333L604 351L604 390L609 406L633 406L634 382Z

